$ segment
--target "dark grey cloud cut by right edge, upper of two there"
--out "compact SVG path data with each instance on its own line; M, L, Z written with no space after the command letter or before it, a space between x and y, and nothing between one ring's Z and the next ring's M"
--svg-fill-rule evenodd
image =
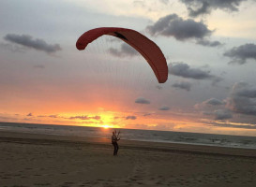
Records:
M232 58L230 63L243 65L247 63L248 59L256 60L256 45L249 43L234 47L233 49L226 51L223 55Z

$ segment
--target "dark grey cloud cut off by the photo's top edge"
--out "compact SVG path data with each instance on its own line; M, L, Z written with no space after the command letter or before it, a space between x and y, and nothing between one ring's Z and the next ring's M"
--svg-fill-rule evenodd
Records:
M238 11L241 2L247 0L180 0L188 8L188 15L197 17L210 14L214 9Z

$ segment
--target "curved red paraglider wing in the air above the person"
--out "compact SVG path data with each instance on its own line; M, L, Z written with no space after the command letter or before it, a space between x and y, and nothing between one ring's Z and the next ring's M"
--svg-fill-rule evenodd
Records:
M168 79L168 67L162 51L157 44L137 31L115 27L92 29L78 38L76 47L78 50L84 50L89 43L103 35L116 36L140 52L153 69L159 83Z

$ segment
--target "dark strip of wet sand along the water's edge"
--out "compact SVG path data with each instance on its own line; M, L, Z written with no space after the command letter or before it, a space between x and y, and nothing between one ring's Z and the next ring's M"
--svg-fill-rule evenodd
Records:
M86 146L93 144L94 146L110 146L111 139L97 138L97 137L74 137L74 136L57 136L44 134L31 134L20 132L0 131L0 142L8 143L31 143L33 144L79 144ZM165 143L153 141L139 141L121 139L119 147L135 150L147 151L176 151L184 153L198 153L198 154L216 154L227 156L243 156L256 158L256 149L247 148L231 148L219 147L209 145L195 145L183 143Z

